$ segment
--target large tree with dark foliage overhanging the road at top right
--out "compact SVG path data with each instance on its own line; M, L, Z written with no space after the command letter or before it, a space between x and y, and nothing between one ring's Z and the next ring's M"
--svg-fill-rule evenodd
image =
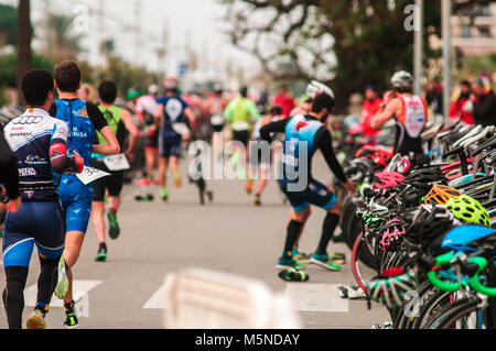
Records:
M379 89L397 69L411 70L413 0L220 0L231 42L254 54L273 79L319 79L336 90L343 110L367 84ZM454 11L484 0L455 3ZM424 41L440 36L440 1L424 1ZM425 48L425 63L440 52ZM278 68L293 67L281 72Z

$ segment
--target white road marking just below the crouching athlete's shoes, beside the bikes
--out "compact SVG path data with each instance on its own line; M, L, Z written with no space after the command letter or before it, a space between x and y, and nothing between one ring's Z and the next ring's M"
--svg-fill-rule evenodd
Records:
M348 312L348 300L341 298L335 284L289 283L284 294L298 311Z

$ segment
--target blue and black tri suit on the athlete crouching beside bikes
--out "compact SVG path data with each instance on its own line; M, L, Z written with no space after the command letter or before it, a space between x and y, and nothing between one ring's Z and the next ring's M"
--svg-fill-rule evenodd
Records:
M261 139L270 142L270 133L273 132L284 133L282 174L279 187L293 210L301 212L310 205L314 205L328 211L336 206L335 194L312 176L312 158L315 152L321 150L336 177L343 183L346 182L343 169L332 150L331 133L324 124L310 116L294 116L262 127L260 129ZM301 169L303 157L306 158L306 169ZM293 190L291 186L301 180L299 176L301 172L306 173L306 184L303 189Z

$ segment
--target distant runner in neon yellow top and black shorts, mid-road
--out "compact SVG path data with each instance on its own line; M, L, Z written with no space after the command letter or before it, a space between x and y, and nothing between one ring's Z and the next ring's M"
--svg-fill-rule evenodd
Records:
M233 151L231 161L234 165L237 165L239 157L245 157L245 162L248 162L249 149L248 141L250 139L250 132L252 125L260 118L257 106L248 99L248 87L241 87L239 89L240 97L233 99L224 111L224 118L229 121L233 130L233 141L240 142L245 146L245 155L240 154L238 147ZM245 169L241 168L238 173L239 178L245 178ZM247 177L245 190L248 195L252 191L252 180Z

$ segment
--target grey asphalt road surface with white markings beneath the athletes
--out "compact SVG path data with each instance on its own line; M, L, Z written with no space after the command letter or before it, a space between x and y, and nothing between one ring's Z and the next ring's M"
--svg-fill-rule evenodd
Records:
M314 160L314 168L316 178L327 183L331 174L320 156ZM214 191L214 201L200 206L196 188L184 179L182 188L170 187L168 204L157 198L152 202L137 202L134 195L142 189L127 185L118 213L121 234L117 240L108 239L105 263L94 261L98 248L89 224L74 270L76 289L86 293L79 301L83 314L79 328L163 328L162 309L150 304L143 307L160 289L165 274L187 267L259 279L274 292L288 290L301 296L304 301L294 301L294 309L304 328L368 329L388 320L388 314L379 305L374 304L369 310L364 300L339 297L335 285L354 282L351 252L344 244L330 245L330 251L346 253L348 262L341 272L310 265L306 283L285 283L277 276L276 263L282 252L289 207L282 204L276 182L269 183L261 207L252 205L252 197L245 194L241 182L211 180L208 186ZM159 188L151 189L158 197ZM316 248L324 216L324 211L313 210L300 244L303 252ZM24 320L32 310L37 273L34 253L25 290ZM0 281L3 289L3 270L0 270ZM48 328L63 328L63 309L58 306L61 301L54 297L47 315ZM7 328L4 311L0 328Z

